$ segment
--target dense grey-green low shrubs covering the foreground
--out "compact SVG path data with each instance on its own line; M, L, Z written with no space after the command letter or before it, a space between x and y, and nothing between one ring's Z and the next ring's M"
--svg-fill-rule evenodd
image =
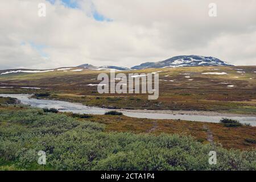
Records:
M0 110L0 170L256 169L255 150L226 150L180 135L106 132L108 124L93 122L118 121L122 115L76 119L69 113L18 107ZM46 166L36 163L40 150L47 154ZM217 165L208 163L212 150Z

